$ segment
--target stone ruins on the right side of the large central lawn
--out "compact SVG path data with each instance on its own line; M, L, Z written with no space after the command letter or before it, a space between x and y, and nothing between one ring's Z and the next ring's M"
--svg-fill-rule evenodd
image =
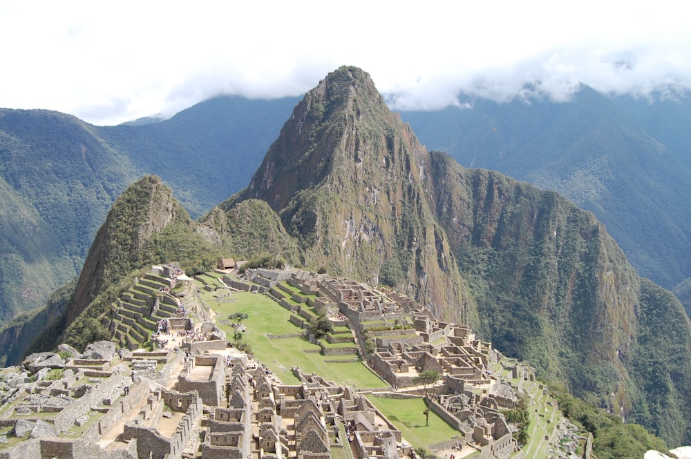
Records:
M520 388L488 369L490 362L498 361L491 343L475 339L467 326L434 320L422 306L394 291L300 270L287 282L305 294L318 295L311 304L317 311L344 317L343 324L356 332L361 349L364 341L374 340L375 351L362 353L392 388L406 391L424 371L442 375L430 407L459 431L459 445L473 443L484 457L502 458L518 451L500 409L514 407ZM370 331L368 323L391 326ZM511 372L518 380L534 379L533 369L526 365L515 364Z

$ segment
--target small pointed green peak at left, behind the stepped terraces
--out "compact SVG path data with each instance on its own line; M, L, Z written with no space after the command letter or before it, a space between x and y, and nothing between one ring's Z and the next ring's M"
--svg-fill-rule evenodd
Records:
M50 349L64 340L108 339L104 318L109 304L151 264L176 261L190 271L213 268L221 252L196 228L159 177L146 176L129 186L99 229L70 299L60 314L51 313L54 322L31 349Z

